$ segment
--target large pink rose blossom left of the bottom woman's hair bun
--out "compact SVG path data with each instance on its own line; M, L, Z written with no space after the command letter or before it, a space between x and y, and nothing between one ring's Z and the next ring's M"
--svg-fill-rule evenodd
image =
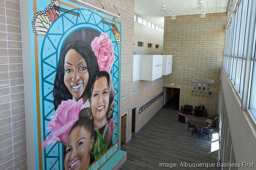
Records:
M46 136L46 140L42 143L42 149L46 148L46 144L53 145L57 141L64 145L67 143L70 129L78 120L82 106L82 98L78 102L71 99L61 102L54 115L51 116L52 120L46 127L49 132L53 133Z

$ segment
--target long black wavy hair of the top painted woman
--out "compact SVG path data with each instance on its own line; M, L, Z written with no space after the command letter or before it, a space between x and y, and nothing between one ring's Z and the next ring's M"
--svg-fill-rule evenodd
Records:
M91 46L87 45L82 40L71 41L64 45L60 52L60 59L57 65L56 76L54 81L53 96L55 110L58 108L59 104L61 104L62 100L72 99L71 93L64 84L65 55L70 49L74 49L77 53L81 54L85 62L87 63L89 80L87 83L87 87L83 92L83 95L87 95L88 98L91 97L92 81L96 77L97 73L100 72L96 56L93 53Z

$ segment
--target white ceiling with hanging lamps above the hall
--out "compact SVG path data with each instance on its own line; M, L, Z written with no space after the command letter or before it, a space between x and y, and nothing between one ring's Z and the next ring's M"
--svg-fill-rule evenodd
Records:
M227 12L229 0L202 0L203 8L196 8L197 0L135 0L135 14L164 27L164 17L176 15L195 15L205 12ZM160 11L161 4L165 3L165 11Z

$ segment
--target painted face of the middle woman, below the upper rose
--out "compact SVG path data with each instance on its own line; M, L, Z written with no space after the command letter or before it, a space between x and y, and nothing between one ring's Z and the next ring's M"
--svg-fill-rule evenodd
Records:
M101 77L94 82L91 94L91 111L94 120L104 121L107 119L106 113L110 101L109 92L108 79L106 77Z

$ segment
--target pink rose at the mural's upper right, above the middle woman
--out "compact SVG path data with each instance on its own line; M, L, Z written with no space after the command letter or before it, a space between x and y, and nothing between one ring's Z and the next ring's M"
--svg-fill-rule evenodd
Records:
M96 55L100 71L110 71L115 61L112 41L107 33L101 33L91 42L91 48Z

